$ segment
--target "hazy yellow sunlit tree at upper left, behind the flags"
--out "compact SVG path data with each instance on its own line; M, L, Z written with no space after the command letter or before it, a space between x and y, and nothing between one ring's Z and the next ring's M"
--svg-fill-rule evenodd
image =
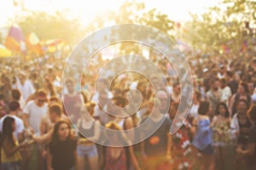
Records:
M67 19L68 13L30 11L18 20L23 33L27 36L35 32L41 40L62 39L69 43L77 42L81 36L81 25L78 19Z

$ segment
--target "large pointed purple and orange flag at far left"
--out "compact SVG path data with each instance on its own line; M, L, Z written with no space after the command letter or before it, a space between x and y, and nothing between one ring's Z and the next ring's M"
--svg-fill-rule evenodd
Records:
M26 50L24 47L25 38L19 27L11 26L9 34L5 39L4 45L11 51L21 52Z

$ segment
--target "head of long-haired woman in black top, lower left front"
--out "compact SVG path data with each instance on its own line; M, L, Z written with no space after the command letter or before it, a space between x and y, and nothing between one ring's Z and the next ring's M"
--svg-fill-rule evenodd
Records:
M72 139L71 126L69 122L61 120L55 123L53 139L55 141L63 141L67 139Z

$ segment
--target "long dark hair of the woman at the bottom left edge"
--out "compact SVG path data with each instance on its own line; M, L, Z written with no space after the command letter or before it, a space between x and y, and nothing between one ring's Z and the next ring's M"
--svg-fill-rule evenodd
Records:
M15 129L13 129L13 123L14 122L15 122L15 118L13 118L11 116L7 116L7 117L4 118L1 144L3 144L4 139L8 139L9 143L15 145L15 141L14 141L14 138L13 138L13 133L14 133L14 130L15 130Z

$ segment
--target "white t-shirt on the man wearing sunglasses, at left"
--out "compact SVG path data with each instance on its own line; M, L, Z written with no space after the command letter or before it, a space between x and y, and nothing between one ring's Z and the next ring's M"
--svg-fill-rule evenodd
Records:
M35 101L29 101L25 108L24 113L28 115L28 124L32 127L35 134L40 134L40 122L43 116L47 114L48 105L44 104L42 107L36 105Z

